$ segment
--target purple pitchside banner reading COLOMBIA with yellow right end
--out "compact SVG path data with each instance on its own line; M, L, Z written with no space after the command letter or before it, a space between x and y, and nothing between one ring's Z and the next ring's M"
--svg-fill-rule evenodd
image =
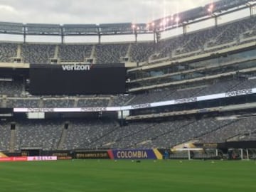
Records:
M112 150L112 156L110 157L112 159L162 159L157 149Z

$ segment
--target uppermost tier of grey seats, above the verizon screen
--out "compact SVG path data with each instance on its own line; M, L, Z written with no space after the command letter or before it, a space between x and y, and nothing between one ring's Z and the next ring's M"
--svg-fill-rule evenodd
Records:
M92 51L93 45L87 44L25 43L21 44L21 58L26 63L50 63L50 58L60 58L62 62L84 62L85 58L90 57L96 58L96 63L119 63L122 57L130 58L136 63L149 61L149 58L173 60L184 53L195 55L226 48L227 43L236 45L247 43L246 38L256 35L255 21L256 17L252 16L233 23L187 33L185 36L163 39L159 43L100 44L95 45L95 51ZM11 58L18 55L17 51L17 43L0 43L0 61L10 62Z

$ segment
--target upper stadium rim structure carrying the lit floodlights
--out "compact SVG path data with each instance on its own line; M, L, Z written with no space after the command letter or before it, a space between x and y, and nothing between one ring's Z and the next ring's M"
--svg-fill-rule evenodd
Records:
M198 18L210 18L213 14L225 14L228 10L245 9L256 0L220 0L213 4L200 6L178 14L159 18L151 23L102 23L102 24L48 24L48 23L9 23L0 22L0 33L23 35L114 35L132 33L153 33L155 30L164 31L169 28L182 26L183 23L195 22ZM249 4L250 2L250 4ZM255 5L255 4L254 4ZM234 10L233 10L234 9ZM164 26L164 27L163 27Z

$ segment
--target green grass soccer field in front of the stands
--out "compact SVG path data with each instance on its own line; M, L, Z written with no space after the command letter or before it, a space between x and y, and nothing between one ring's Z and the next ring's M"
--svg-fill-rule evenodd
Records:
M255 161L33 161L0 164L6 191L256 191Z

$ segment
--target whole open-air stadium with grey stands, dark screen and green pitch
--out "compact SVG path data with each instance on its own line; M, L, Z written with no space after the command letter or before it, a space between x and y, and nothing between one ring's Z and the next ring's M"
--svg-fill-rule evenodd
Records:
M22 161L0 164L4 191L255 191L255 1L150 23L3 21L1 35L21 39L0 42L0 161Z

